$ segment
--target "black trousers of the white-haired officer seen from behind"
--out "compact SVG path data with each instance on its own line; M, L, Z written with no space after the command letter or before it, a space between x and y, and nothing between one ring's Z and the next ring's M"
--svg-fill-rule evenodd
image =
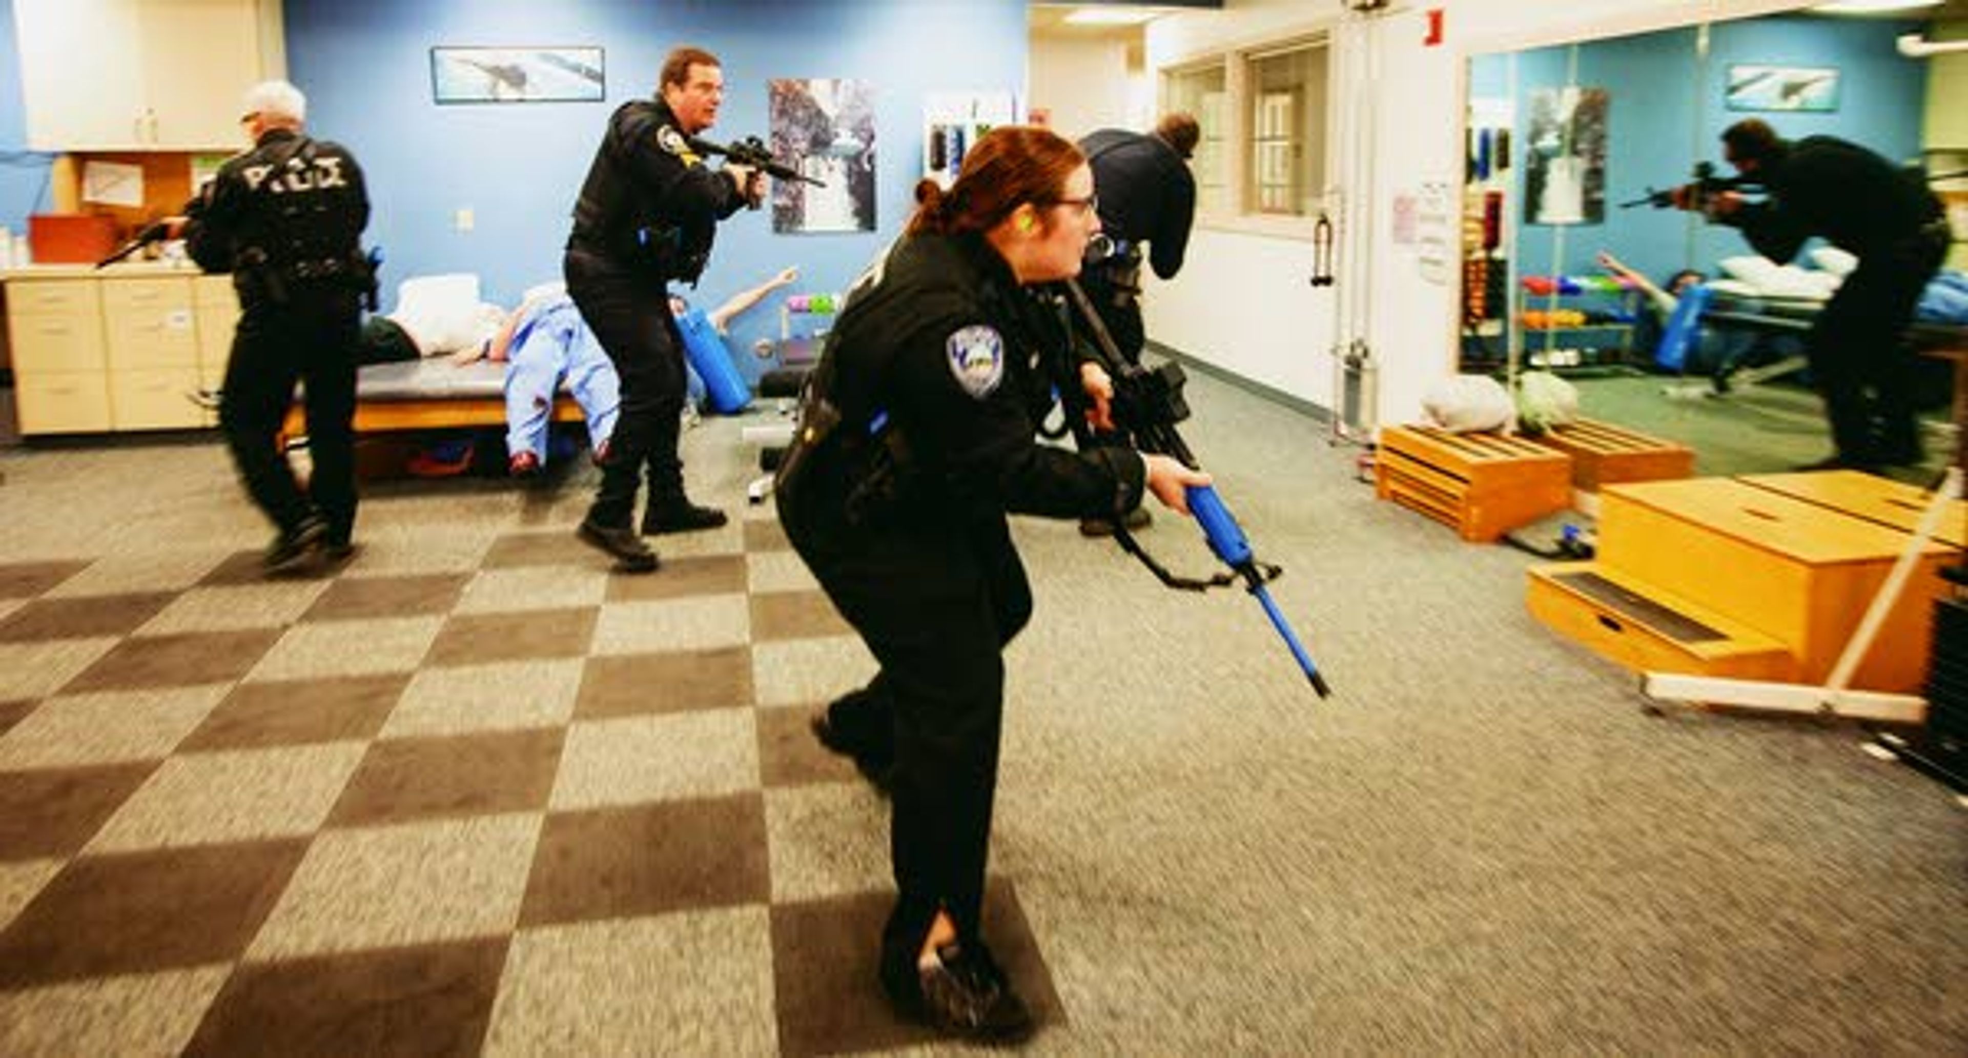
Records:
M356 336L360 303L344 289L297 289L283 305L254 303L240 313L226 362L218 427L254 503L281 531L321 513L329 539L346 543L356 523ZM307 403L307 490L276 446L281 419L301 382Z

